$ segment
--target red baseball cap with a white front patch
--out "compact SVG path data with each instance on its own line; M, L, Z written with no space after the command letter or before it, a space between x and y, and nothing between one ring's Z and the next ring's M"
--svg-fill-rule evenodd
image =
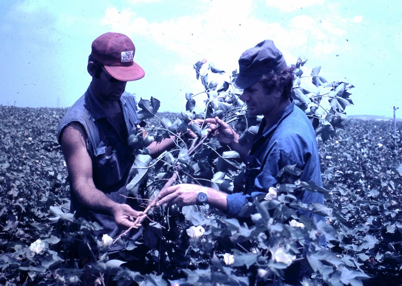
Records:
M135 81L145 76L144 70L134 62L134 54L133 41L123 34L108 32L92 42L93 59L119 81Z

